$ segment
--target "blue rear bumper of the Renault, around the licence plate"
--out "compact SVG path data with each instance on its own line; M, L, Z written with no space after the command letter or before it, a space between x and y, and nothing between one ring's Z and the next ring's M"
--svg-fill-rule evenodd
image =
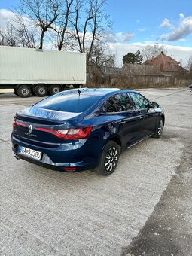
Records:
M93 169L97 165L97 159L93 157L87 157L87 161L80 157L78 158L78 150L62 151L62 148L43 148L36 145L32 145L27 142L23 142L21 139L17 139L15 136L11 136L12 150L14 151L17 159L23 159L30 163L35 163L38 166L44 166L49 169L60 170L63 172L80 172L86 169ZM36 151L42 152L41 160L35 160L31 157L27 157L20 154L19 147L23 146L31 148ZM62 146L61 146L62 147ZM82 148L80 149L82 151ZM71 156L70 156L71 155ZM51 157L50 157L51 156ZM65 168L71 168L72 170L66 170Z

